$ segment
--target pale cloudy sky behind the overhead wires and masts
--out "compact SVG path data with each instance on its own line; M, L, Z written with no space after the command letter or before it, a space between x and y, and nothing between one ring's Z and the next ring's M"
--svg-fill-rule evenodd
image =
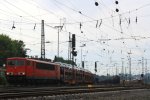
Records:
M29 56L40 57L41 20L45 22L46 58L57 55L58 29L59 55L68 59L69 32L76 34L77 64L94 72L98 61L98 74L129 72L142 73L150 66L150 1L149 0L0 0L0 34L23 40ZM98 3L98 6L95 5ZM116 9L119 11L116 12ZM12 28L12 27L15 28ZM86 46L82 47L83 44ZM115 67L114 67L115 66ZM116 70L116 66L117 69ZM146 70L145 70L146 71Z

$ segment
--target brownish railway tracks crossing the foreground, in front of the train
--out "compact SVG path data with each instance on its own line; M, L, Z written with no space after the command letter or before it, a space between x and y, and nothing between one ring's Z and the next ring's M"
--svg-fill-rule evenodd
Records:
M23 98L23 97L37 97L37 96L52 96L52 95L66 95L78 93L91 92L106 92L106 91L120 91L143 89L147 87L41 87L41 88L14 88L4 89L0 91L0 98Z

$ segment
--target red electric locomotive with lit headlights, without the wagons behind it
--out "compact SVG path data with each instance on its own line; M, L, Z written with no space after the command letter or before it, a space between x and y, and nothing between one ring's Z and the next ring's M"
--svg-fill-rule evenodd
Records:
M8 58L6 77L9 83L56 83L60 80L60 66L30 58Z

